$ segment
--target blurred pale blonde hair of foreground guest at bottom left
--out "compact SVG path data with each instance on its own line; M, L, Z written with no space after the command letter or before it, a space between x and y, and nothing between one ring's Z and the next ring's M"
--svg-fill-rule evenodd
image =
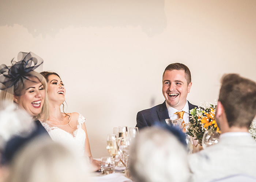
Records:
M37 138L10 164L7 182L88 182L86 161L49 138Z

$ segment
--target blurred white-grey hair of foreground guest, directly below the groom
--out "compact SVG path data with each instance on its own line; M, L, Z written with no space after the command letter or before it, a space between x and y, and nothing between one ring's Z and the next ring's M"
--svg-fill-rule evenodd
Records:
M169 131L148 127L131 145L129 171L136 182L187 182L189 167L184 145Z

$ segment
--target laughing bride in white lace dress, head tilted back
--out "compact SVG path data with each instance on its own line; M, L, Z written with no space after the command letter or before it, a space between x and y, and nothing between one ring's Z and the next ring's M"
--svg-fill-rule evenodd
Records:
M85 118L77 113L63 113L61 104L65 102L65 87L60 76L55 72L41 72L47 80L50 116L42 125L54 141L70 145L78 155L89 157L94 170L100 169L100 162L93 159L87 136Z

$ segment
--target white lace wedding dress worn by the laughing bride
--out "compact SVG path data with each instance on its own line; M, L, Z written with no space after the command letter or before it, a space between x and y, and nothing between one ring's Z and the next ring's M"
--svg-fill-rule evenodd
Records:
M42 123L42 125L45 127L46 131L49 133L53 141L64 143L64 145L75 149L79 156L84 156L86 139L86 133L82 129L82 124L84 123L84 121L85 118L81 114L79 114L79 118L77 120L77 128L74 128L75 130L72 134L61 129L62 126L67 126L67 124L57 127L46 121L45 123Z

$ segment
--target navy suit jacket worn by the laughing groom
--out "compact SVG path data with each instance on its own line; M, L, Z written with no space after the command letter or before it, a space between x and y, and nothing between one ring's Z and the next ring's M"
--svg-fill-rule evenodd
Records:
M196 105L193 105L188 102L188 108L189 110L197 107ZM165 119L168 119L169 114L166 107L165 102L162 104L159 104L157 106L154 106L150 109L139 111L137 114L137 124L136 127L139 129L144 128L146 126L152 126L156 122L160 122L162 124L165 124Z

